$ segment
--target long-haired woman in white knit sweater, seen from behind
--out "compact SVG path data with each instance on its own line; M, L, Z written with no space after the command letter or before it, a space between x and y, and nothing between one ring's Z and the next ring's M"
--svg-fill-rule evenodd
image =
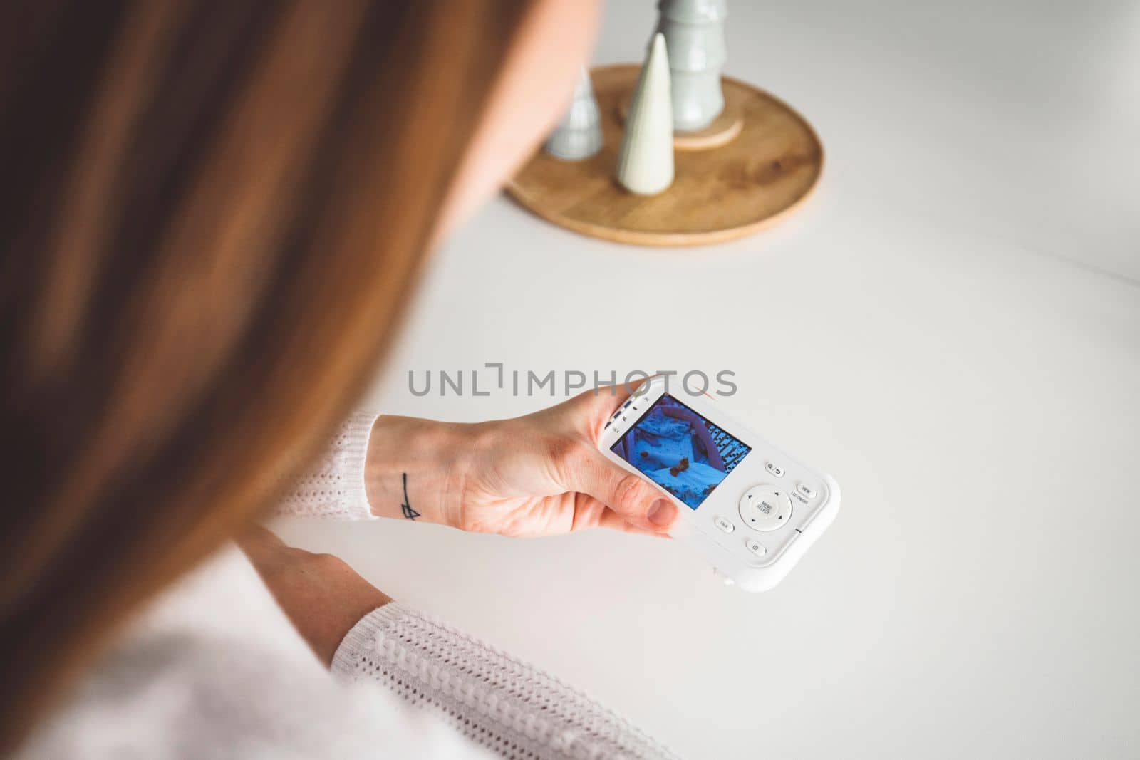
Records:
M275 504L510 534L676 520L593 449L620 397L470 426L350 414L424 251L556 119L595 21L580 0L0 5L6 752L663 754L252 528Z

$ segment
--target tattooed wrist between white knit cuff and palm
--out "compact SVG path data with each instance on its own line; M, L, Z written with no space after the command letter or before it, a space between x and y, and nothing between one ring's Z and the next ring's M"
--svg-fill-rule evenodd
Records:
M365 492L378 517L456 526L471 425L383 415L373 423Z

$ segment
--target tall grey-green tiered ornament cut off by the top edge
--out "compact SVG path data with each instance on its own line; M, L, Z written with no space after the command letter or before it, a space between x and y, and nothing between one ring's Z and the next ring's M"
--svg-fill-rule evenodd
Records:
M669 46L673 128L694 132L724 111L720 71L726 58L726 0L660 0L657 31Z

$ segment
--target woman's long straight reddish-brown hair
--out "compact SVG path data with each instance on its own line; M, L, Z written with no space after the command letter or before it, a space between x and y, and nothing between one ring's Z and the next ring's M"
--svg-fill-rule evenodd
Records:
M0 5L0 747L350 408L524 9Z

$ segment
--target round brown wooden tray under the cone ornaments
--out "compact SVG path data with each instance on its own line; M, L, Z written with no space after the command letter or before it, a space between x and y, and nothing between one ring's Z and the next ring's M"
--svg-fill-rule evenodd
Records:
M726 108L743 116L732 141L674 153L676 179L641 196L613 180L621 145L619 104L637 82L637 65L591 72L602 112L602 149L585 161L538 150L507 193L543 219L583 235L636 245L705 245L756 232L797 207L823 171L812 126L767 92L724 77Z

